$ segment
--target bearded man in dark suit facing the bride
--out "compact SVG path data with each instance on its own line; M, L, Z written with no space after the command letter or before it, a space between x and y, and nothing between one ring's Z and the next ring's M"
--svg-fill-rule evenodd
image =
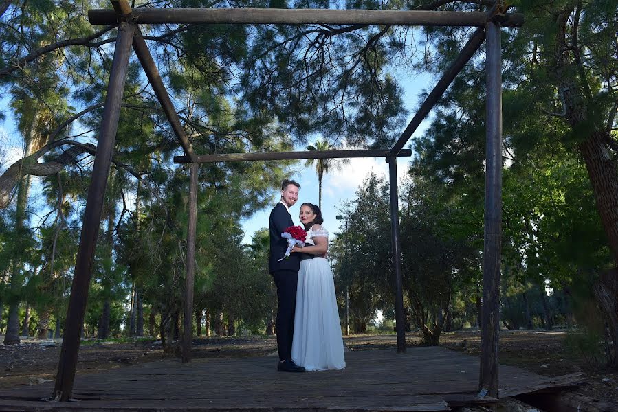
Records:
M289 208L298 200L300 185L293 180L284 180L281 184L281 200L270 212L268 221L270 229L270 257L268 271L277 286L279 308L277 310L277 349L281 372L304 372L305 368L291 360L292 337L294 335L294 310L296 309L296 284L300 258L298 253L291 253L289 259L279 260L285 255L287 240L281 233L287 227L294 226Z

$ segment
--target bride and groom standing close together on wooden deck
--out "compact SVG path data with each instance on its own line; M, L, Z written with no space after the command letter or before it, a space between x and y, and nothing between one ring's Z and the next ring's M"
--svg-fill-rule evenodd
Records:
M285 180L281 201L270 212L269 272L277 286L279 308L276 332L278 371L304 372L344 369L333 272L325 256L329 232L322 212L311 203L300 206L300 222L307 231L304 247L294 247L283 259L287 240L281 233L294 226L289 208L296 204L300 185Z

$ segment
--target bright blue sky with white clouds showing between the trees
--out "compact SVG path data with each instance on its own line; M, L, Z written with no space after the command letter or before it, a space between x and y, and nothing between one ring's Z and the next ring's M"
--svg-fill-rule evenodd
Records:
M394 73L398 78L404 78L401 82L401 86L404 89L404 102L406 109L408 110L408 119L404 124L401 124L401 131L403 131L412 116L415 114L416 108L419 106L419 94L427 89L431 89L436 80L432 79L427 73L420 73L417 76L410 76L410 73ZM21 158L23 153L23 143L19 137L19 133L16 130L14 119L8 108L8 99L6 97L0 98L0 106L2 112L5 113L6 119L0 123L0 172L3 172L8 165L14 163L14 161ZM422 135L426 130L428 121L425 120L412 138ZM410 139L411 140L411 139ZM309 141L309 144L313 144L315 141ZM406 145L409 148L410 144ZM298 147L295 150L305 150L305 147ZM408 170L408 164L412 157L399 157L397 159L397 175L399 181L406 175ZM298 202L294 207L291 207L291 215L296 225L300 225L298 220L298 212L300 205L304 202L311 202L318 204L318 176L316 175L315 166L305 167L305 161L299 161L294 166L295 172L291 175L291 179L294 179L302 186L298 197ZM341 214L342 205L351 201L355 196L355 192L358 187L362 185L366 176L371 171L378 176L384 176L388 179L388 163L384 158L357 158L350 159L350 162L343 165L340 170L332 170L329 174L325 174L322 179L322 215L324 217L324 227L331 233L335 234L340 231L340 227L344 223L335 218L336 215ZM40 211L45 208L42 200L38 198L38 194L41 192L41 185L39 185L39 178L33 176L32 189L30 197L30 210ZM280 192L274 190L272 193L272 205L274 206L280 198ZM247 218L241 222L243 230L245 231L245 237L243 242L250 243L251 237L254 233L268 226L270 208L262 211L257 211L254 216ZM36 216L33 216L31 223L36 227L39 220Z

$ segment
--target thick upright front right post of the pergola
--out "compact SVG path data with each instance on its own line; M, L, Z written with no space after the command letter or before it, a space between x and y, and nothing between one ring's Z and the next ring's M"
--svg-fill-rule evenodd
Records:
M485 148L485 247L481 317L480 396L498 397L500 244L502 233L502 54L500 23L487 23L487 121Z

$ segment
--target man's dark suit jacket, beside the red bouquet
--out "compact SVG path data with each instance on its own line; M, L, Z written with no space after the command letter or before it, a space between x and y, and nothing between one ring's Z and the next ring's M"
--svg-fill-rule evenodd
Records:
M270 257L268 260L268 271L298 271L300 268L300 258L298 253L291 253L289 259L281 260L287 249L287 239L281 237L281 233L290 226L294 226L291 216L285 209L283 203L277 205L270 212L268 227L270 229Z

